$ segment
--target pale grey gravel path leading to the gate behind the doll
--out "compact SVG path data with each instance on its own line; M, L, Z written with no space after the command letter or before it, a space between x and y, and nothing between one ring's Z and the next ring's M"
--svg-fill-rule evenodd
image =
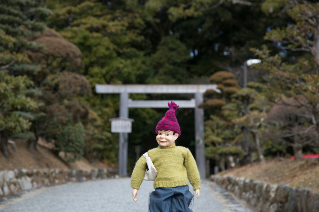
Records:
M104 179L44 187L0 203L1 212L147 212L152 181L143 181L132 199L130 178ZM190 185L190 190L192 187ZM224 189L204 180L195 212L253 212L238 204Z

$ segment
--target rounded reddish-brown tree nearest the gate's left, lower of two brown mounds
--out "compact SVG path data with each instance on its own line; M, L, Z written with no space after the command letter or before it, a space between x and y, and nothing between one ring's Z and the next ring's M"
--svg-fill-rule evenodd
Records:
M75 161L84 154L86 130L82 122L90 110L78 98L91 93L90 83L83 75L67 71L51 74L43 83L41 109L46 115L33 124L35 134L53 142L57 155L64 151L66 159Z

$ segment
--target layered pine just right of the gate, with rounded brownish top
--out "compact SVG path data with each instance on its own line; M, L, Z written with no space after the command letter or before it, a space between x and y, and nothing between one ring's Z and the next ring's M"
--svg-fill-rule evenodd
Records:
M217 83L222 92L206 91L205 95L210 98L201 105L213 113L205 122L205 142L208 145L205 155L217 160L222 170L226 156L245 155L243 161L251 162L250 156L255 150L259 160L264 162L259 130L269 103L260 93L262 84L249 82L247 88L240 88L234 78L229 71L217 71L211 75L210 80Z

